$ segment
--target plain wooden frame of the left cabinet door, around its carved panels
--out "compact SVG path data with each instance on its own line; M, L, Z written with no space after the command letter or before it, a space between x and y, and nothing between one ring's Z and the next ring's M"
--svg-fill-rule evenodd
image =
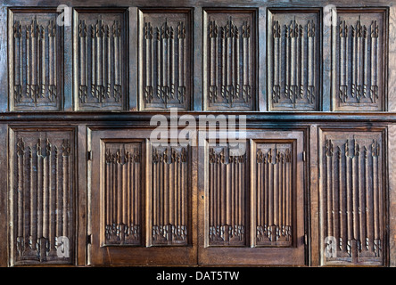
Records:
M188 198L191 208L189 209L189 231L188 245L186 246L151 246L151 239L148 237L148 227L151 224L149 221L150 213L150 171L147 166L150 165L148 154L150 153L150 144L148 138L151 130L122 127L118 129L108 129L106 127L90 127L88 130L89 145L88 151L92 151L92 162L88 165L88 180L91 181L88 190L88 208L90 212L88 222L88 234L92 236L92 244L89 246L88 265L196 265L196 221L193 216L196 215L196 186L190 183ZM94 171L94 169L102 169L101 161L103 161L103 143L105 142L142 142L144 149L144 175L142 175L141 183L144 190L141 196L141 217L144 221L144 231L142 230L143 239L142 246L108 246L103 247L103 202L100 202L100 197L103 193L101 183L101 171ZM189 159L189 166L191 173L194 173L194 161L196 154L191 152ZM191 177L190 177L191 179ZM101 189L101 191L98 191Z

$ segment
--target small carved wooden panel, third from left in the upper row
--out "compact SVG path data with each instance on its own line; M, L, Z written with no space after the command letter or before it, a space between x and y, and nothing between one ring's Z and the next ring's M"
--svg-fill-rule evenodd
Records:
M190 10L142 10L139 20L141 109L188 110L192 92Z

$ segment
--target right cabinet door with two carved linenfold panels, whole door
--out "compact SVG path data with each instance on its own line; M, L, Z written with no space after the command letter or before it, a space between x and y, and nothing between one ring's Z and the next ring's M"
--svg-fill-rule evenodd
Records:
M304 135L246 136L244 153L231 140L199 150L199 264L303 265Z

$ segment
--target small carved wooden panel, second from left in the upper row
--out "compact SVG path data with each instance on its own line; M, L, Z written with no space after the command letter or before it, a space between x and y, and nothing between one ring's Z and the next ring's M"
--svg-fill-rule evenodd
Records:
M78 9L74 19L74 102L77 110L125 110L127 13Z

